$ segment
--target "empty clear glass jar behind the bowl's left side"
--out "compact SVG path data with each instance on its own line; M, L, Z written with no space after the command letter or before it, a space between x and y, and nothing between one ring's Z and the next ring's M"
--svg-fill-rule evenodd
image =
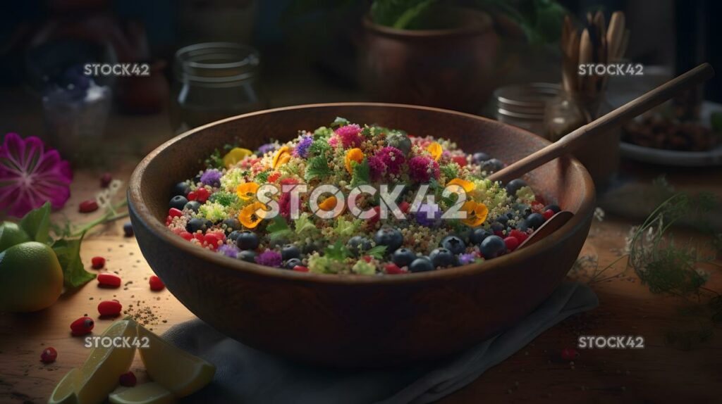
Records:
M232 42L186 46L175 53L171 117L176 133L266 108L258 52Z

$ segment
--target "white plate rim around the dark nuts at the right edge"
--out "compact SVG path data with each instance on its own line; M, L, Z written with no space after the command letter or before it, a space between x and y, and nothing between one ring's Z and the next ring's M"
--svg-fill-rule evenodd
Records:
M715 111L722 111L722 104L703 102L700 121L703 122L704 126L709 127L710 115ZM674 151L619 142L619 151L625 158L665 166L703 167L722 165L722 144L710 151Z

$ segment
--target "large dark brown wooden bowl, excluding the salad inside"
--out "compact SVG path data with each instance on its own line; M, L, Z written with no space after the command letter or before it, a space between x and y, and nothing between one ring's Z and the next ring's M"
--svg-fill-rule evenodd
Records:
M461 112L399 104L315 104L219 120L179 135L138 165L128 190L131 220L152 269L183 305L257 349L334 367L384 367L453 354L512 326L543 302L586 239L594 187L573 158L526 180L574 217L529 248L483 264L369 277L284 271L193 246L165 228L170 188L234 138L254 149L270 138L329 125L335 117L413 135L450 138L467 152L506 163L549 142L517 127Z

